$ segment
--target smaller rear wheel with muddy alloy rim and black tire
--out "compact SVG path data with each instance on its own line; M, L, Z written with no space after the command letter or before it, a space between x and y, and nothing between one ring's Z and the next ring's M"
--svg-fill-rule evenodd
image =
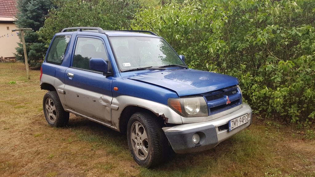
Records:
M63 109L56 91L44 95L43 111L46 121L52 127L64 127L69 122L69 112Z

